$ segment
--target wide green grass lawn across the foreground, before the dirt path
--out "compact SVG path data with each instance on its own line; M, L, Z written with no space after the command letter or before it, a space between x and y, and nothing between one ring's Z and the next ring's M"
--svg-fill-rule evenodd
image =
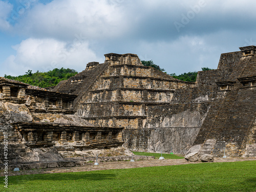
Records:
M12 176L0 191L255 191L255 167L244 161Z

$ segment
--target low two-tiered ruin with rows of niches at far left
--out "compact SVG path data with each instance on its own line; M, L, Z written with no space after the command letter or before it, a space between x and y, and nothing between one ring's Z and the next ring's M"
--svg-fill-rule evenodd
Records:
M65 151L123 144L123 127L99 127L74 115L73 94L50 92L0 78L0 142L8 141L8 160L63 160ZM1 160L4 151L0 152Z

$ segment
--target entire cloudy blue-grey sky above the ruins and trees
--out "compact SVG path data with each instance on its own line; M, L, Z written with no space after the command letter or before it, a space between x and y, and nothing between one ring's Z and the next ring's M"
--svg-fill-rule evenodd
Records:
M216 69L256 45L252 0L0 0L0 76L134 53L167 73Z

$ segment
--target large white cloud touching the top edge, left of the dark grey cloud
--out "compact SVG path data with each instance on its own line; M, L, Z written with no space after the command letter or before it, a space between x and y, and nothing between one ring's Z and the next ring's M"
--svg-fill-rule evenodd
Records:
M105 0L59 0L37 4L15 26L34 37L72 39L82 32L88 38L119 36L126 29L120 6Z

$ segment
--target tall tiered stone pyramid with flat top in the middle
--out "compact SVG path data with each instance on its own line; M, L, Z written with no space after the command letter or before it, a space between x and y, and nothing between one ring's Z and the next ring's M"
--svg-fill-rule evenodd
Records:
M163 148L165 141L159 140L162 140L161 135L165 135L162 131L167 131L166 139L169 145L172 142L179 142L177 148L182 148L182 151L176 152L185 153L195 140L203 114L200 116L198 113L190 114L187 111L190 116L196 115L196 118L201 119L200 122L189 124L189 127L192 126L189 130L187 125L180 125L179 122L179 118L186 116L186 112L181 115L182 117L175 118L174 129L169 129L168 124L162 125L162 121L168 121L168 116L165 115L165 120L164 117L158 116L162 106L169 107L173 100L179 99L173 98L175 90L187 90L193 87L195 87L194 82L181 81L152 67L143 66L135 54L110 53L105 55L104 63L88 63L86 70L69 80L60 82L52 91L77 94L74 103L77 115L96 126L116 128L123 126L124 145L130 150L152 152L165 150ZM165 112L171 114L168 110ZM176 110L176 113L179 111ZM166 126L168 128L163 130L162 127ZM177 141L173 132L178 134ZM185 134L184 139L180 140L180 134ZM174 135L174 138L170 138L171 135Z

